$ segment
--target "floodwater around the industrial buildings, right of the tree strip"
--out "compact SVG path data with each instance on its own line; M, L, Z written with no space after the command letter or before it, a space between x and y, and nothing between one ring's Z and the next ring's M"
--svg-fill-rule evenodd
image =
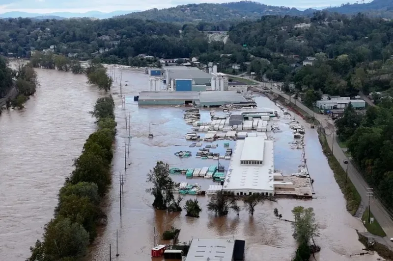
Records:
M120 69L116 69L118 74ZM113 73L113 72L110 72ZM115 77L119 79L119 76ZM139 107L133 101L133 95L148 90L148 75L142 71L122 70L123 94L125 110L119 95L113 95L116 103L116 120L118 135L115 156L113 160L113 186L109 193L108 225L101 237L97 238L91 249L92 260L103 260L109 255L109 244L115 249L116 230L119 232L118 261L151 260L150 249L154 244L154 228L157 235L162 235L171 226L181 229L179 240L189 241L192 238L238 238L246 240L246 261L260 260L263 256L269 261L289 261L296 249L292 238L292 228L289 222L278 220L273 215L273 209L278 208L283 218L292 219L291 210L295 206L313 207L320 226L320 237L316 242L322 247L316 255L318 261L375 261L377 255L351 256L362 252L364 247L357 239L355 229L364 231L358 219L345 210L345 200L340 192L332 170L322 153L316 130L306 127L305 151L311 177L314 179L315 199L303 201L294 199L279 199L278 202L265 202L258 205L254 216L242 210L240 215L230 213L226 217L215 217L206 210L208 197L197 196L203 212L200 218L186 217L185 213L167 214L155 211L151 203L153 197L146 193L150 184L146 183L146 174L157 161L164 161L174 167L203 167L217 164L213 160L196 159L195 156L181 159L174 156L180 150L190 150L195 155L198 148L189 148L192 142L184 139L190 125L182 119L182 108L175 107ZM125 86L127 84L128 86ZM114 83L117 87L112 92L120 93L119 80ZM257 97L259 108L279 108L265 97ZM124 159L124 137L128 136L125 116L131 115L130 152ZM209 110L201 112L201 120L209 120ZM299 119L301 120L301 119ZM153 139L147 138L149 123ZM301 151L289 147L293 141L292 131L282 120L279 122L281 133L270 134L275 138L275 168L284 174L297 172L301 164ZM128 150L126 139L126 150ZM223 142L217 142L219 147L215 152L223 150ZM204 143L208 144L208 143ZM230 142L229 147L233 147ZM125 164L126 161L126 164ZM220 160L225 167L229 161ZM124 166L127 170L124 171ZM122 216L120 217L118 173L124 175L124 194L122 199ZM207 189L213 182L210 179L187 179L184 175L173 175L176 181L198 183ZM196 196L185 196L184 200Z

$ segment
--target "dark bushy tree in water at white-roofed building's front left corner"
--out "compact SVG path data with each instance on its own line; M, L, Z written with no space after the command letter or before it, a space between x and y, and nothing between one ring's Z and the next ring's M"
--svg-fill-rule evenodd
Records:
M225 193L220 190L216 195L210 198L207 209L218 216L227 215L229 210L235 210L239 213L239 207L236 204L236 198L233 193Z

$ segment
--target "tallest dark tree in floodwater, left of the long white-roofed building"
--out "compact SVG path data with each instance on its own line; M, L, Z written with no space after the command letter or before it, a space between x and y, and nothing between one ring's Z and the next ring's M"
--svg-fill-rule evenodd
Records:
M169 176L169 165L159 161L153 170L147 174L147 182L153 184L153 188L146 191L154 196L153 206L158 210L166 210L168 204L173 201L175 185Z

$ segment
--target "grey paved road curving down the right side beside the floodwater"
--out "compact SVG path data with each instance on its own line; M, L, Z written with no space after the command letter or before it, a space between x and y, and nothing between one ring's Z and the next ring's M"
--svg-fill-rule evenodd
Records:
M236 75L229 75L229 76L235 76L239 77ZM242 76L240 76L242 77ZM251 79L250 79L251 80ZM256 80L251 80L253 82L262 84L262 82L256 81ZM308 113L309 115L313 115L313 111L310 110L307 106L302 104L301 102L297 101L295 98L292 98L290 95L282 93L280 90L277 89L277 87L272 86L271 88L273 93L276 93L278 95L281 95L283 98L289 100L290 102L294 103L296 106L298 106L300 109ZM356 190L358 190L359 194L362 197L362 203L361 204L367 204L368 203L368 196L367 188L370 188L367 183L365 182L363 176L360 174L356 166L354 166L351 162L351 159L348 158L341 147L337 143L336 139L336 129L335 126L328 121L328 116L327 115L322 115L322 114L317 114L315 113L315 119L317 119L319 122L321 122L322 127L325 129L326 132L326 140L329 144L330 149L332 150L333 147L333 155L337 159L337 161L340 163L341 167L346 170L347 165L348 165L348 177L351 180L351 182L354 184ZM344 164L344 160L348 161L348 164ZM391 213L389 210L387 210L383 204L375 197L373 197L370 201L370 210L376 220L378 220L378 223L381 225L382 229L386 233L386 237L384 237L386 241L386 245L389 246L393 250L393 242L390 241L390 238L393 237L393 220L391 216Z

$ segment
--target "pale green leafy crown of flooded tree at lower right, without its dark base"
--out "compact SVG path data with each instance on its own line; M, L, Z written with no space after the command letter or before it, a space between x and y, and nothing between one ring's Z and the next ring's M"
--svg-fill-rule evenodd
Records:
M318 224L315 221L315 214L312 208L294 207L292 214L295 218L295 222L292 223L292 236L299 244L308 244L311 238L314 240L313 237L319 236Z

